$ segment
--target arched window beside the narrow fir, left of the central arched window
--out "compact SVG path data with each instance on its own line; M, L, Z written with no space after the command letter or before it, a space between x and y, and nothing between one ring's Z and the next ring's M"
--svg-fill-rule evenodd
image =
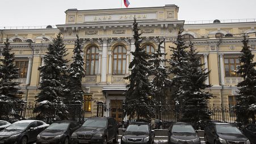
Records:
M99 49L91 46L86 52L86 75L98 74Z

